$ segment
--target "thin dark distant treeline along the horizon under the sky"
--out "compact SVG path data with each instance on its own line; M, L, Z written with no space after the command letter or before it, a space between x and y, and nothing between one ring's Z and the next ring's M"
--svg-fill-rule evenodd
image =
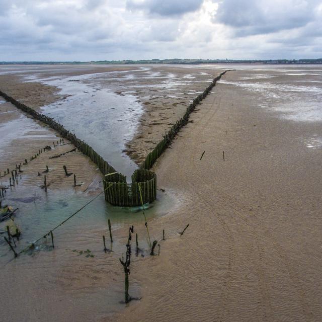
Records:
M318 59L141 59L99 61L0 61L0 65L52 65L52 64L322 64Z

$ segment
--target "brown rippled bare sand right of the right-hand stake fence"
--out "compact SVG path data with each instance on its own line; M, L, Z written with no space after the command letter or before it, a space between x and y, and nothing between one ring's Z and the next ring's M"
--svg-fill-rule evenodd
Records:
M285 121L240 87L214 93L155 166L180 206L149 223L166 240L133 270L142 299L104 321L322 318L322 150L303 140L320 122Z

